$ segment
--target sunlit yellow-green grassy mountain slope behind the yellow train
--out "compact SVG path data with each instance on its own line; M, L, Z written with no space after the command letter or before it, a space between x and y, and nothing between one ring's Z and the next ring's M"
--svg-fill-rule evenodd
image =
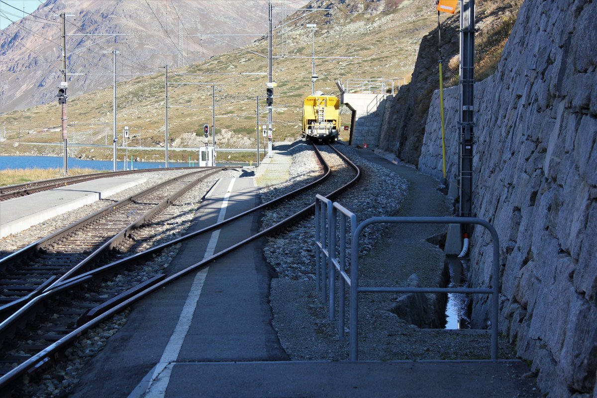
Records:
M410 78L421 37L436 25L433 1L334 2L330 11L298 11L288 16L273 35L273 80L277 82L273 107L274 139L300 136L302 99L311 92L313 30L316 23L316 90L337 94L334 81L349 78ZM340 5L338 5L340 4ZM330 2L309 4L320 8ZM353 14L356 13L356 14ZM301 17L303 16L303 17ZM216 140L218 147L256 146L256 97L261 97L260 121L266 118L264 94L267 81L267 39L261 38L244 49L217 55L207 61L171 69L168 127L170 147L196 147L198 127L212 124L212 87L216 85ZM196 75L176 75L194 73ZM199 73L199 74L198 74ZM202 73L202 74L201 74ZM192 84L174 84L192 83ZM202 83L203 85L200 85ZM165 141L164 72L139 76L118 84L118 132L128 125L141 146L162 147ZM343 115L343 124L350 117ZM69 98L69 143L106 143L112 135L112 88ZM50 104L0 116L0 128L7 128L4 153L54 153L61 147L36 147L26 142L60 143L60 107ZM21 134L21 145L18 130ZM76 134L75 134L76 131ZM140 141L137 141L140 140ZM119 138L119 145L121 140ZM136 150L137 151L137 150ZM131 153L131 150L129 150ZM74 156L111 158L111 149L72 149ZM163 153L135 152L134 156L159 160ZM171 156L188 159L192 153Z

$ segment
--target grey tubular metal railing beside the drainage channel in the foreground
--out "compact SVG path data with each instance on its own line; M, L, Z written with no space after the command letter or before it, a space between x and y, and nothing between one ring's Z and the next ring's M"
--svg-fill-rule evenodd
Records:
M321 288L321 297L324 303L328 301L330 319L334 319L335 311L335 285L338 280L338 337L344 338L344 293L346 284L350 288L349 297L349 333L350 333L350 360L358 360L358 295L359 293L462 293L462 294L491 294L491 360L497 360L498 337L498 295L499 287L499 252L500 242L496 229L485 220L473 217L373 217L368 218L356 226L356 215L331 200L317 195L315 208L316 225L316 261L317 286ZM338 215L340 218L338 219ZM323 220L326 218L326 220ZM350 220L350 263L349 274L347 269L347 222ZM339 234L337 224L340 222ZM493 244L493 264L490 288L400 288L384 286L359 286L359 236L362 231L376 223L398 224L476 224L491 233ZM336 248L337 235L340 245ZM339 256L338 256L339 254ZM325 270L324 260L327 260ZM326 275L326 273L328 275ZM328 277L329 276L329 277ZM326 300L326 283L329 283L329 300Z

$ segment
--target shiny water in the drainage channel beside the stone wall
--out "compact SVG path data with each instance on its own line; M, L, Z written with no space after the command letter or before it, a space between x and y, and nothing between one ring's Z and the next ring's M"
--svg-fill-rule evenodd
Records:
M469 260L467 258L457 258L446 256L445 259L448 269L450 269L450 288L466 286L466 276L469 271ZM470 329L470 319L467 309L469 298L466 294L448 293L446 304L445 329Z

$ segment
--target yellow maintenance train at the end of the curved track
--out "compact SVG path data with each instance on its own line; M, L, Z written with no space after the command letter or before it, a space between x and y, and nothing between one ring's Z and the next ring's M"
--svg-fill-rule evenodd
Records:
M303 101L303 138L336 141L340 127L340 99L321 91Z

